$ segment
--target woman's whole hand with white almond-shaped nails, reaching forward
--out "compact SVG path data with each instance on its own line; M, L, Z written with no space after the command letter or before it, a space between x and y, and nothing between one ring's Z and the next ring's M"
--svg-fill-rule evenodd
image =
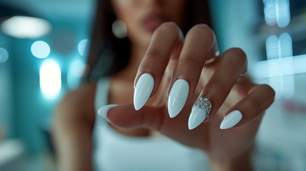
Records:
M134 106L111 108L108 121L123 128L159 131L182 144L202 149L217 163L234 161L246 154L263 112L274 101L274 91L268 85L253 84L247 77L237 83L247 67L241 49L231 48L205 64L214 59L216 52L215 34L207 25L192 27L184 40L175 23L163 23L155 30L140 64ZM169 82L168 92L161 90ZM168 103L160 98L157 106L143 106L159 87L164 95L161 97L169 95ZM201 104L193 108L200 97L208 98L211 108L209 103L207 108ZM203 102L205 105L208 101Z

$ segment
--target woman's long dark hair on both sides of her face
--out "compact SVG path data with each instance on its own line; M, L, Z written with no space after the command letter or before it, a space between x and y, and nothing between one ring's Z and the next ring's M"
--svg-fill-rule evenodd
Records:
M123 69L129 62L130 41L127 37L117 38L112 24L116 16L110 0L97 0L91 44L88 55L87 80L110 76ZM208 0L187 0L185 9L184 35L196 24L205 23L211 27Z

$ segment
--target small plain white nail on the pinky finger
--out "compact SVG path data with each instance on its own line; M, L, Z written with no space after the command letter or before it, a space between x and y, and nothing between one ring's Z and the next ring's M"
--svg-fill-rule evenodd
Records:
M237 125L237 123L239 123L242 119L242 114L240 111L235 110L233 112L230 112L222 121L221 125L220 125L220 129L227 129L227 128L231 128L235 125Z

